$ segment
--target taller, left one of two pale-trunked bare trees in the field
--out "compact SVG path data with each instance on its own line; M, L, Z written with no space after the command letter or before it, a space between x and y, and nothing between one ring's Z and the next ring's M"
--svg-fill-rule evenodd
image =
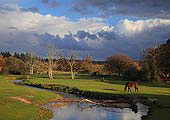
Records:
M56 47L50 44L47 47L47 57L48 57L48 77L53 79L53 64L54 64L54 57L56 55Z

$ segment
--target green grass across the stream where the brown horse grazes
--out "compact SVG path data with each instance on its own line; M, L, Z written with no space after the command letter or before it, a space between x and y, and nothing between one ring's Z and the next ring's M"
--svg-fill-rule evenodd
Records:
M110 79L101 82L100 78L79 75L75 80L71 80L69 75L56 75L53 80L47 78L47 76L36 76L29 80L31 83L49 83L49 84L60 84L70 87L77 87L80 90L111 93L111 94L122 94L122 95L139 95L150 98L158 99L159 106L153 106L152 116L148 119L152 120L170 120L170 85L157 84L144 82L139 85L139 92L124 92L125 81ZM133 90L132 90L133 91Z

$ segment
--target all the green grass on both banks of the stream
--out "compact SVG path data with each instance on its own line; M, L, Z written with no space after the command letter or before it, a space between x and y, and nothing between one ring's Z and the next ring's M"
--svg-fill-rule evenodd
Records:
M21 76L0 75L0 119L1 120L46 120L51 114L49 111L41 109L39 106L46 104L48 100L60 97L54 93L43 90L16 86L11 79ZM19 78L17 78L19 79ZM147 119L168 120L170 119L170 85L150 82L141 82L139 92L124 92L125 81L118 78L110 78L101 82L99 77L89 75L78 75L75 80L71 80L69 75L56 75L53 80L46 75L34 76L28 80L31 83L40 84L60 84L70 87L77 87L80 90L109 93L113 95L139 95L158 99L159 106L152 106L151 114ZM132 90L133 91L133 90ZM33 102L28 105L11 97L19 96ZM33 97L30 97L33 96Z

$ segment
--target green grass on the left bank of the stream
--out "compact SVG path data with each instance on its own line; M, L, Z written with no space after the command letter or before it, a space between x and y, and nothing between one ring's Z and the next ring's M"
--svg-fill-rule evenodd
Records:
M45 90L17 86L10 79L18 76L0 75L0 120L46 120L51 117L48 110L40 106L48 100L60 97ZM32 105L19 102L11 97L21 97L33 102Z

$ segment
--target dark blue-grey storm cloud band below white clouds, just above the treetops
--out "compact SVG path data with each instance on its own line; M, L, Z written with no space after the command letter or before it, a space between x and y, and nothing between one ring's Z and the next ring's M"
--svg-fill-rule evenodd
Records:
M11 28L13 29L13 27ZM157 29L159 29L159 31ZM166 28L158 26L150 30L144 30L135 34L133 37L118 35L115 31L100 31L96 34L78 31L74 35L65 35L63 38L49 33L13 32L13 34L8 34L4 37L3 35L1 36L1 50L31 50L41 56L46 56L47 46L49 44L54 44L60 50L65 50L67 52L73 50L78 51L82 56L89 53L94 59L98 60L105 59L116 53L124 53L132 58L139 59L143 49L164 43L170 38L170 25ZM76 38L78 38L78 41ZM91 41L94 45L90 45ZM96 44L97 48L95 47Z

